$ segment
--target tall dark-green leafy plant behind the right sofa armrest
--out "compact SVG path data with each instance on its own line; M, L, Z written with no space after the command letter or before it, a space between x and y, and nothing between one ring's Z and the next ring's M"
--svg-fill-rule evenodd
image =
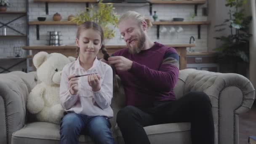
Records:
M243 5L247 0L226 0L229 7L229 19L223 24L216 25L216 32L226 28L230 29L227 36L214 37L221 41L221 46L215 48L218 51L217 61L221 72L234 72L244 76L248 75L249 67L249 24L251 16L245 16Z

